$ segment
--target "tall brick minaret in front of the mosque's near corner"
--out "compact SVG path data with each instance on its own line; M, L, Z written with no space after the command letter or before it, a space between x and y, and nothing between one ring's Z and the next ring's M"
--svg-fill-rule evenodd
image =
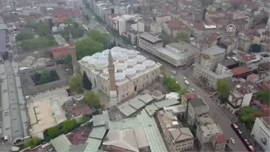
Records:
M118 103L115 85L115 65L113 65L113 56L110 52L108 56L108 72L110 80L110 106L115 106Z

